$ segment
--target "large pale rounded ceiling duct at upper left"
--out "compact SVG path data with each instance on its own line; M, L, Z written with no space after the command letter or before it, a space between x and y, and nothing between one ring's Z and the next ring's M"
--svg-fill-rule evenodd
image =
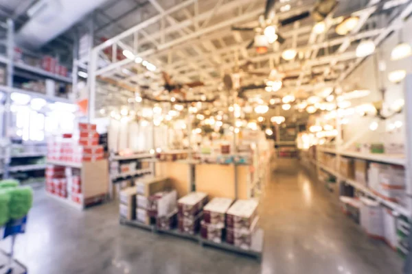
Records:
M16 43L38 49L56 38L106 0L41 0L27 11L29 21L16 34Z

